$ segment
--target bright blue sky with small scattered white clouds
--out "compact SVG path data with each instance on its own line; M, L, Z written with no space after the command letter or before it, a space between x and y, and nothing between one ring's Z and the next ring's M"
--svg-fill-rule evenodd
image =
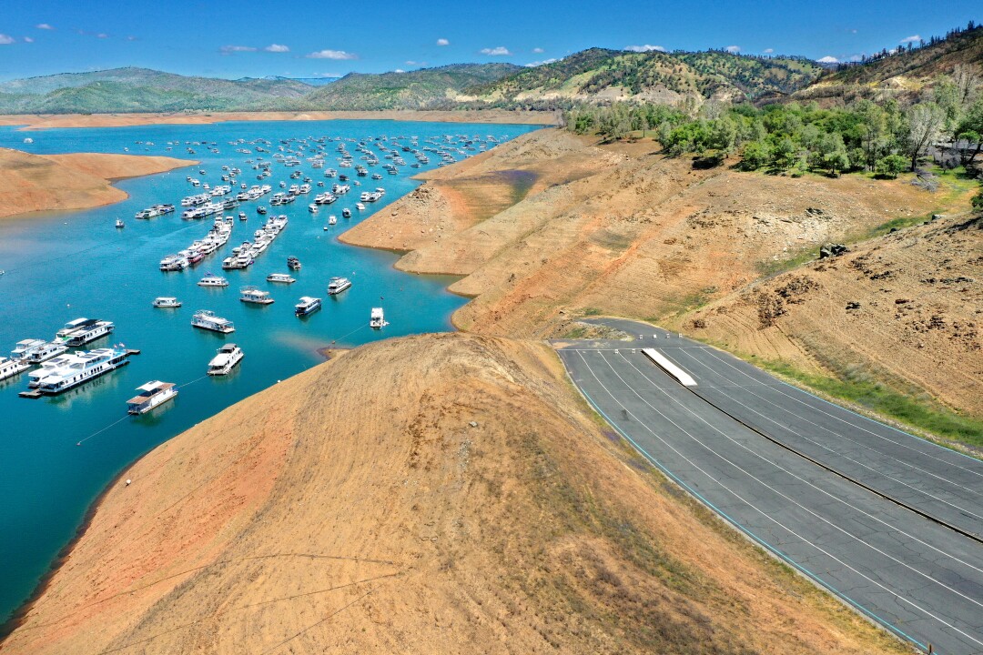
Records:
M323 77L531 64L591 46L727 48L840 61L983 20L979 2L3 0L0 80L119 66Z

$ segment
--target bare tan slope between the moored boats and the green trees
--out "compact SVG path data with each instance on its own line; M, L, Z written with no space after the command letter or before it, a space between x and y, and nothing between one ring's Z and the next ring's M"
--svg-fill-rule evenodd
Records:
M401 269L465 276L451 291L476 298L454 315L458 327L536 336L570 312L662 319L803 248L940 203L902 181L699 170L657 150L558 130L521 136L428 174L342 239L410 250ZM502 208L502 198L519 201Z

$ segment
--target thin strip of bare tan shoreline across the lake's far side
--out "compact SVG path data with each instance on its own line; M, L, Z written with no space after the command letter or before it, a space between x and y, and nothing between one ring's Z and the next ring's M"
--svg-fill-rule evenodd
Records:
M119 128L134 125L205 125L222 121L430 121L433 123L513 123L555 125L551 112L480 109L475 111L279 111L214 112L175 114L19 114L0 115L0 125L25 126L23 130L47 128Z

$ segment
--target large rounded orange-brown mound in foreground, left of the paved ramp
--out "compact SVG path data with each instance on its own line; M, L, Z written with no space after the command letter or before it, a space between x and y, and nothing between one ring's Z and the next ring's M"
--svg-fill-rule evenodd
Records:
M632 456L541 344L367 346L123 477L4 653L906 652Z

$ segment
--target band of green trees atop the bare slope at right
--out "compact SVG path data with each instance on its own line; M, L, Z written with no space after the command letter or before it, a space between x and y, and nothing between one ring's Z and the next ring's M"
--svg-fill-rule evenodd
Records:
M886 177L914 170L930 146L954 142L966 164L980 151L983 93L972 69L956 67L908 106L861 99L847 107L815 103L724 106L688 100L674 107L614 103L565 113L569 130L617 139L653 131L671 154L738 154L747 170L837 175L872 171Z

